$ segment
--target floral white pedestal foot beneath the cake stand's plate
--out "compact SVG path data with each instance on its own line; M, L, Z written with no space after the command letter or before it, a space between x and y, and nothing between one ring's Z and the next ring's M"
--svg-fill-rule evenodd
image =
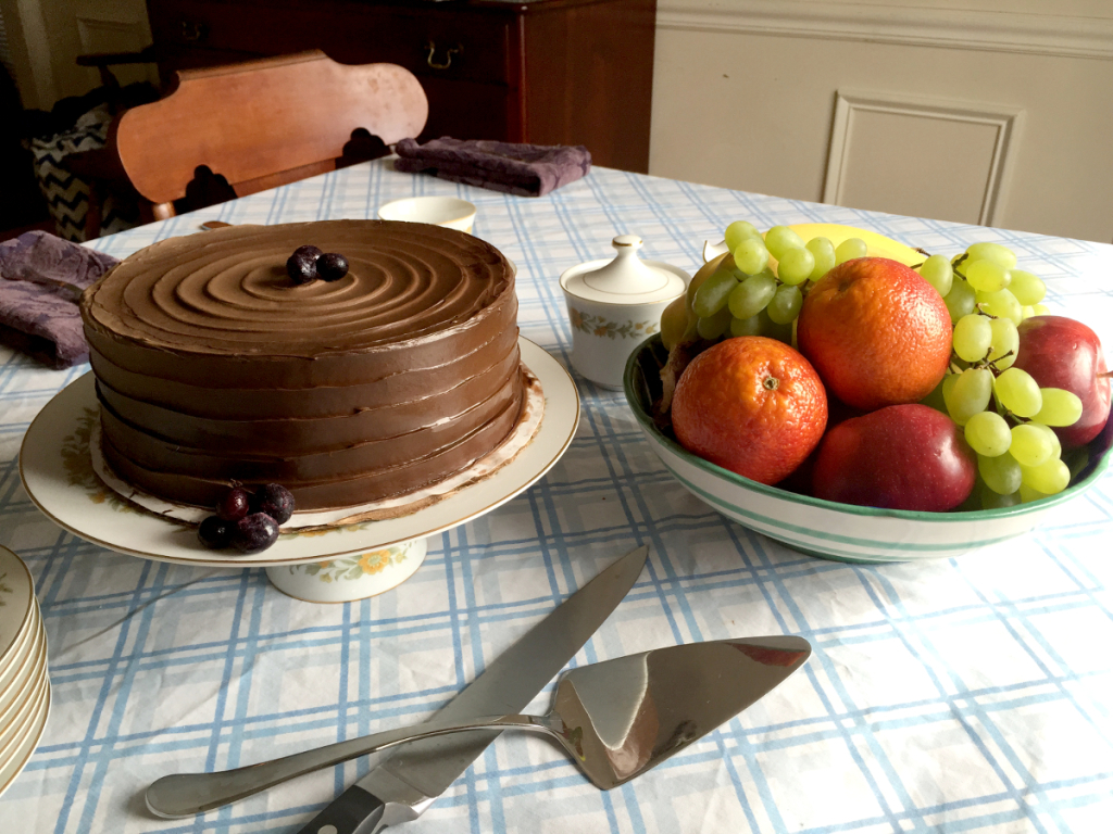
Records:
M429 542L415 538L361 554L299 565L270 565L267 578L307 603L352 603L397 587L425 560Z

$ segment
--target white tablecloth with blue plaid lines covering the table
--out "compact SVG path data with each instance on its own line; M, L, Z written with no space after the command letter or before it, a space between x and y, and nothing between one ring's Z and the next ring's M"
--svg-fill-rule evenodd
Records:
M1113 346L1113 247L894 217L594 169L541 199L375 161L96 241L124 257L205 219L374 217L404 196L466 198L519 266L522 334L570 367L562 270L638 234L689 272L748 219L834 221L929 251L1009 246L1053 312ZM554 746L504 734L417 822L437 834L1103 832L1113 828L1113 478L1036 533L961 558L854 566L789 550L684 492L621 394L577 377L578 435L531 489L433 537L418 572L357 603L290 599L262 569L105 550L40 515L18 475L40 408L87 371L0 349L0 544L37 583L53 706L0 832L296 832L374 758L204 816L161 821L155 777L227 768L427 717L524 631L638 544L648 568L573 664L762 634L811 642L772 694L612 792ZM83 500L83 496L75 498ZM548 707L551 691L531 705Z

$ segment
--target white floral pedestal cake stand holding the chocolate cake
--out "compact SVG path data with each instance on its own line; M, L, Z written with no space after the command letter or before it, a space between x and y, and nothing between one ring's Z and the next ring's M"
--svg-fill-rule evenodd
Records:
M89 437L99 410L91 373L59 391L31 423L20 449L19 474L48 518L111 550L183 565L266 567L272 584L298 599L363 599L410 578L425 558L429 536L505 504L568 449L580 420L575 383L532 341L520 339L519 345L545 400L533 439L483 480L398 518L285 535L256 554L206 550L191 527L124 500L93 474Z

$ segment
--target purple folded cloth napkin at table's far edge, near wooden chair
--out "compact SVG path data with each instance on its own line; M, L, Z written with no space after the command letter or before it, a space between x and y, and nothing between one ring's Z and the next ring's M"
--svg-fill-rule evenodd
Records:
M591 170L582 145L513 145L485 139L442 137L424 145L403 139L394 150L400 171L433 170L437 177L469 186L541 197Z

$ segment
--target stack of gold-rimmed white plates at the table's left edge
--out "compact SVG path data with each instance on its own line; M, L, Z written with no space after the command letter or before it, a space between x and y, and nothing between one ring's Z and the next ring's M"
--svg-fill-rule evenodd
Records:
M31 574L0 547L0 793L31 757L49 712L47 633Z

